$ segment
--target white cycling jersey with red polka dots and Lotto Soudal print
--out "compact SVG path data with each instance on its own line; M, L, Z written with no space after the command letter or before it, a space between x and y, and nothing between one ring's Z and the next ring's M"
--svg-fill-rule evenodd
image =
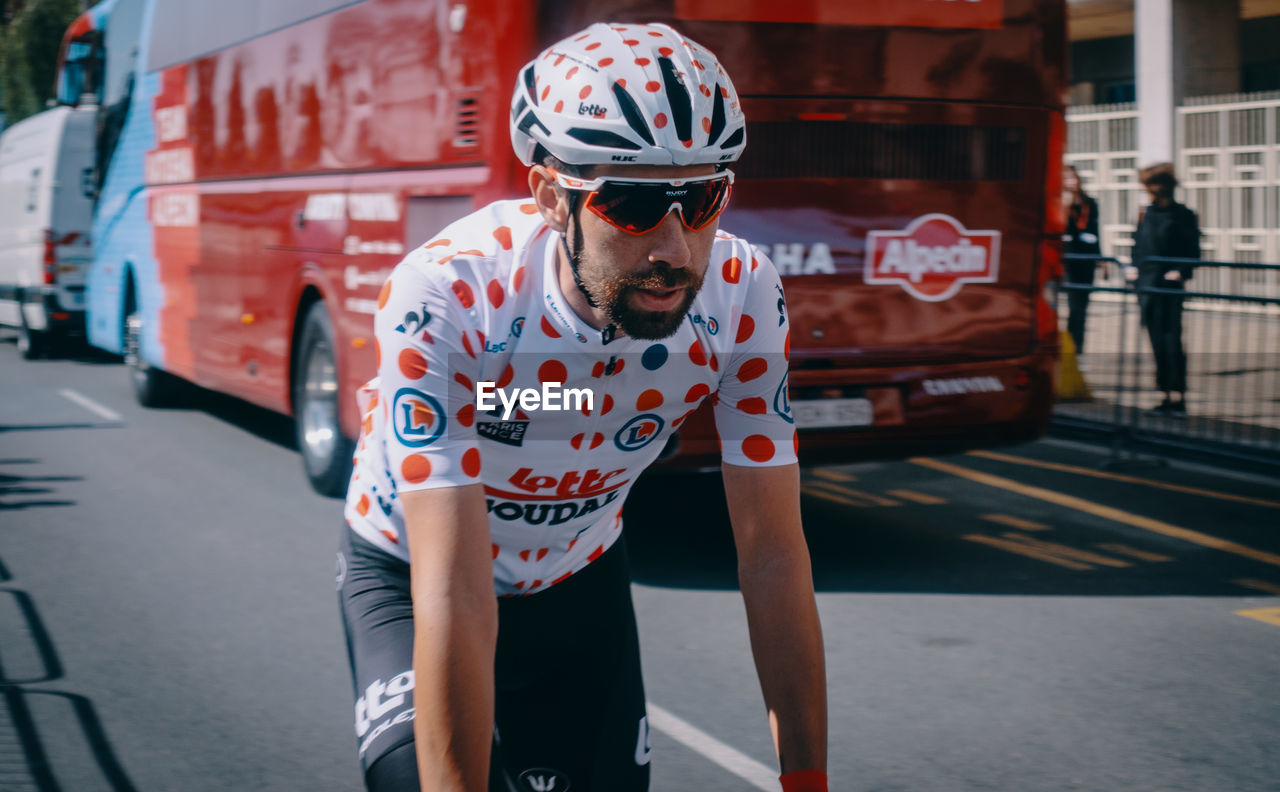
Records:
M787 313L765 256L718 233L689 315L644 340L573 312L558 247L532 202L500 201L411 252L378 297L378 376L358 394L347 522L408 560L398 495L483 484L499 595L599 558L632 482L705 399L726 462L796 459Z

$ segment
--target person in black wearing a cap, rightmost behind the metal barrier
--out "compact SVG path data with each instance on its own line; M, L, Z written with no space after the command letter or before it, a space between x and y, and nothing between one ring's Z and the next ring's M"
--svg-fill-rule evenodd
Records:
M1161 162L1139 174L1151 194L1151 206L1138 219L1133 235L1133 266L1126 274L1139 289L1185 289L1193 265L1152 261L1157 256L1199 258L1199 224L1196 212L1174 200L1178 179L1174 166ZM1187 415L1187 353L1183 349L1183 297L1180 294L1144 294L1138 305L1142 324L1147 326L1151 347L1156 353L1156 388L1165 392L1165 400L1156 412L1170 416Z

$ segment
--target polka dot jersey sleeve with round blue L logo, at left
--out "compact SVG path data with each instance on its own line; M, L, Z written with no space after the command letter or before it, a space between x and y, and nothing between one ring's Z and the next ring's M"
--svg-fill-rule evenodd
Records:
M479 362L462 306L474 284L465 275L451 284L443 267L428 276L424 264L438 266L416 253L392 271L374 319L387 472L402 493L480 481Z

